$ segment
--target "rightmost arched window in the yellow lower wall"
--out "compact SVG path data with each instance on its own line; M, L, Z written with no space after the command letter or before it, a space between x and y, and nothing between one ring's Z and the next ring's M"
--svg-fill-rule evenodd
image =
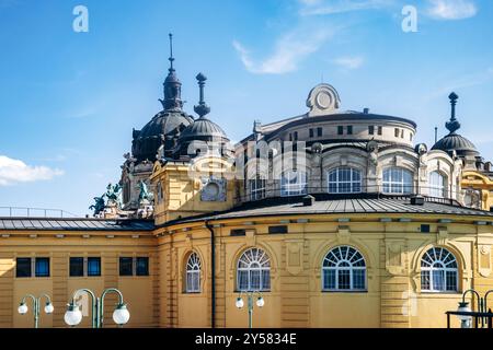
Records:
M458 268L454 254L445 248L431 248L421 259L421 290L457 292Z

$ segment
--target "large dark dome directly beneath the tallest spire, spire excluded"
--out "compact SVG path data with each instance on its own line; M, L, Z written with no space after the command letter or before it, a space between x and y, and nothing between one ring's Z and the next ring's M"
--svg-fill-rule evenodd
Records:
M131 153L138 162L154 161L158 149L174 147L173 138L194 119L183 110L161 110L141 130L134 130Z

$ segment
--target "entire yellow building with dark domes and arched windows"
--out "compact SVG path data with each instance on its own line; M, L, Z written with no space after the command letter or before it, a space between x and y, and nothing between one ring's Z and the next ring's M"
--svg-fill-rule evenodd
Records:
M95 218L0 218L0 327L30 327L32 305L20 315L19 303L44 293L55 311L41 327L66 327L74 291L108 288L130 327L245 327L236 303L249 293L264 301L256 327L446 327L463 292L493 289L492 184L456 132L456 94L450 132L429 151L413 143L414 121L341 110L325 83L309 112L256 121L232 147L197 81L195 119L170 67L163 110L133 132L126 202L108 186ZM469 187L482 208L468 206ZM107 327L116 302L108 294Z

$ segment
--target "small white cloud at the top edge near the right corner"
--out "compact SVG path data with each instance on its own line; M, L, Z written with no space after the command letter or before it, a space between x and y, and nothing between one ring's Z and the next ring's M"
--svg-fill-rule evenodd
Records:
M428 0L428 2L427 14L437 20L462 20L478 13L472 0Z

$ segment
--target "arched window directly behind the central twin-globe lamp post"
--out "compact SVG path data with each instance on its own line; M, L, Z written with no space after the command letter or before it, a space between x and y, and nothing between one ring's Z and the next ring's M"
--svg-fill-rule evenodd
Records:
M271 289L271 260L267 254L259 248L243 253L238 260L239 291L268 291Z

